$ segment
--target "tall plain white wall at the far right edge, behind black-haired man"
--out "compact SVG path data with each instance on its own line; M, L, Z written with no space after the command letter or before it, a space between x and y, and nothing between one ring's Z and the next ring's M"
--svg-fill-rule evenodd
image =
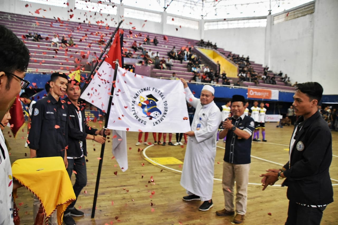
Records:
M337 95L338 1L317 0L314 13L312 81L324 87L325 95Z

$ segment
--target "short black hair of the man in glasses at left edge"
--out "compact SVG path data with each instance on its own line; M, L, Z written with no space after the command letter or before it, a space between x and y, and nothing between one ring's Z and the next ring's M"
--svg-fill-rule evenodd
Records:
M0 25L0 71L14 73L27 71L30 55L26 45L8 28ZM6 74L6 90L13 76Z

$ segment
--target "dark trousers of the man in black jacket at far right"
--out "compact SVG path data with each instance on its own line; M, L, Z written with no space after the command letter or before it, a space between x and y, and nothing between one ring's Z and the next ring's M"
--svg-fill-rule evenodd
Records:
M307 207L289 201L288 218L285 225L320 225L323 216L323 207Z

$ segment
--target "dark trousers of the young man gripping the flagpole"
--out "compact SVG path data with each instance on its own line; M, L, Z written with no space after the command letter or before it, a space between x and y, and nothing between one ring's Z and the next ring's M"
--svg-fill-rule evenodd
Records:
M73 186L73 190L77 197L79 196L82 188L87 185L87 167L86 167L86 159L83 157L75 158L75 159L68 159L68 168L67 172L69 178L72 176L73 170L76 172L75 174L75 183ZM66 209L65 215L72 209L76 203L76 200L73 201Z

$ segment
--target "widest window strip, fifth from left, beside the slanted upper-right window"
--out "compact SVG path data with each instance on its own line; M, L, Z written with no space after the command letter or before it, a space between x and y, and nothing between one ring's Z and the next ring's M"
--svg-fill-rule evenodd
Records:
M230 20L230 21L216 21L204 23L204 30L245 28L245 27L266 27L266 19Z

